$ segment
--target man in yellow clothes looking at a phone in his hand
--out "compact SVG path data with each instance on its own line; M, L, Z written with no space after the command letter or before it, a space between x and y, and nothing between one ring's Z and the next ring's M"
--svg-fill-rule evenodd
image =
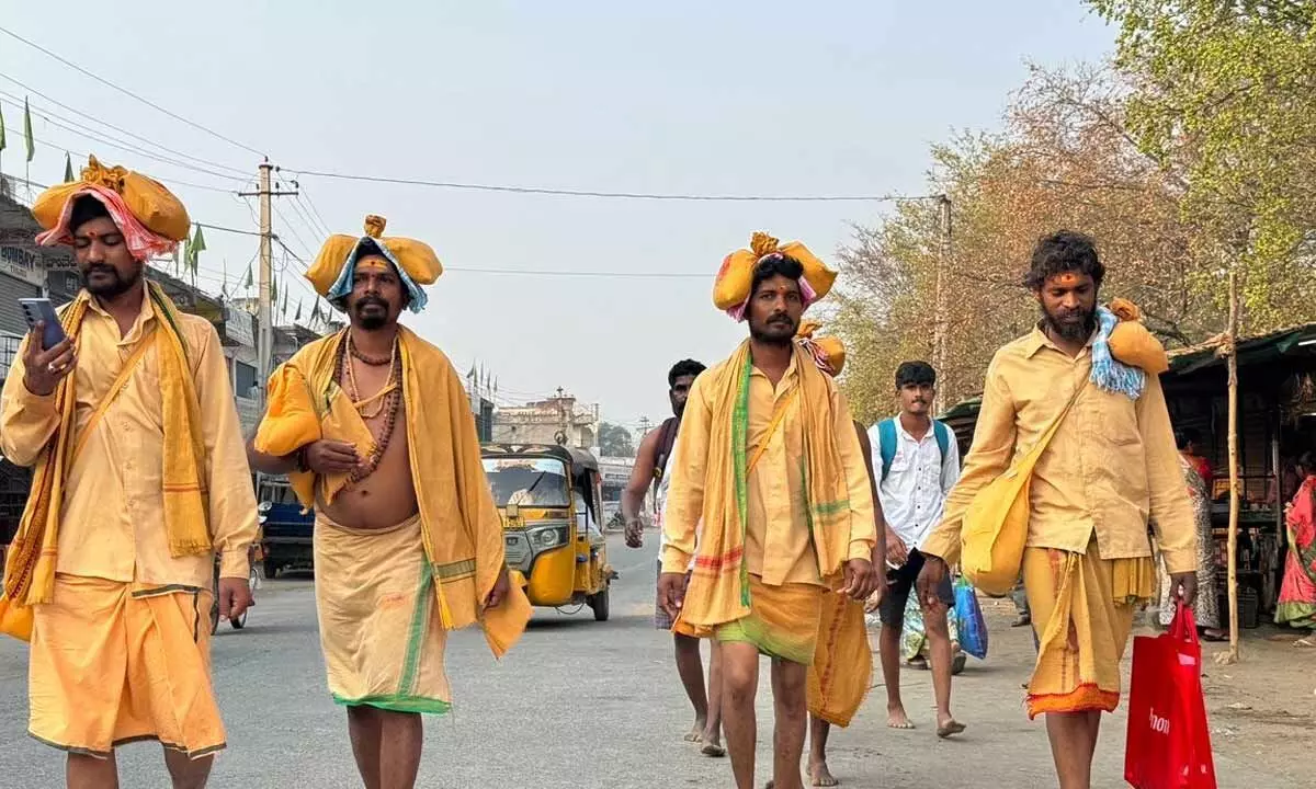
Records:
M241 615L257 513L218 334L143 276L190 220L95 158L33 213L86 287L61 312L70 339L45 347L38 325L0 397L0 448L36 467L0 598L0 629L32 640L29 732L68 752L70 786L116 786L114 747L153 739L172 785L200 788L224 748L216 555L220 614Z

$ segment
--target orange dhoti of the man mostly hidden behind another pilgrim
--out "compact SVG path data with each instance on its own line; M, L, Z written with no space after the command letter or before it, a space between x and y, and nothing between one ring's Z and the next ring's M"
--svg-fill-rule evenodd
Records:
M820 606L817 647L809 667L809 714L833 726L849 726L873 680L873 647L863 604L826 593Z

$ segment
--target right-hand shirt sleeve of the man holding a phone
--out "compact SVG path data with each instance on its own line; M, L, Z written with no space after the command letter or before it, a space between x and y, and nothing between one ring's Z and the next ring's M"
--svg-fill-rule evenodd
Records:
M257 534L255 492L220 335L213 326L205 329L197 356L196 396L201 405L211 533L220 555L220 576L245 579L250 572L247 548Z

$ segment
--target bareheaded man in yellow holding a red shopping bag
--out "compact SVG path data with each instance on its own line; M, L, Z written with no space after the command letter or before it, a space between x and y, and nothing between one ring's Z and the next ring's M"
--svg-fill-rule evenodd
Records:
M1033 469L1023 556L1040 640L1028 714L1046 715L1061 789L1091 785L1101 713L1120 701L1120 658L1155 576L1149 517L1177 596L1191 605L1196 592L1196 527L1159 371L1116 355L1116 316L1098 308L1104 275L1083 234L1037 242L1026 283L1042 320L988 366L963 473L920 548L919 596L944 610L936 586L959 558L970 502L1063 414Z

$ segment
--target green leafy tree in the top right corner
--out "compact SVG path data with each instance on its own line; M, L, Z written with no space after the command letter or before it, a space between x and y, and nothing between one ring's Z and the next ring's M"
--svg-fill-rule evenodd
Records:
M1199 272L1242 275L1248 331L1316 304L1316 3L1087 0L1119 28L1140 150L1184 183Z

